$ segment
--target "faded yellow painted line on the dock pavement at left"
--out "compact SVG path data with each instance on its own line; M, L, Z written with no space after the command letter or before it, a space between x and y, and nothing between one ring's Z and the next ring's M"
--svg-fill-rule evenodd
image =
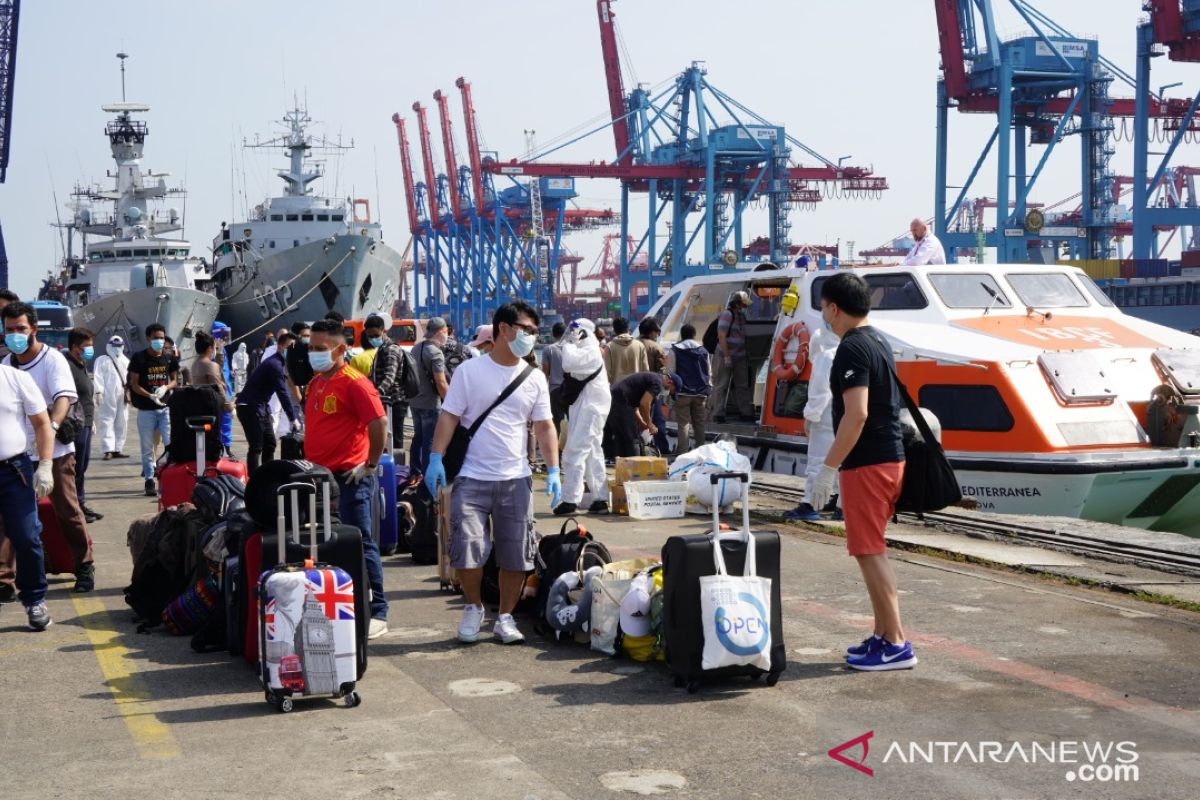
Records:
M120 643L120 634L113 628L104 603L95 597L79 596L72 596L71 602L88 632L88 640L91 642L100 670L104 674L108 691L113 693L116 710L142 758L178 758L181 754L179 742L170 728L160 722L150 710L150 692L131 669L134 663L128 657L131 651Z

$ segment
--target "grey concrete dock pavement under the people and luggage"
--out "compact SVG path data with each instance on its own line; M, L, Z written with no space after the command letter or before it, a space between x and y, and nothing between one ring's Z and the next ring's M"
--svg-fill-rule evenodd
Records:
M788 649L775 687L690 696L661 664L542 640L528 620L523 646L460 645L461 599L400 555L385 559L390 632L371 643L362 705L281 715L240 660L131 624L125 530L155 507L132 462L89 471L106 515L91 527L97 590L53 579L44 633L0 609L16 796L1182 799L1200 786L1200 614L896 552L920 663L852 673L841 652L870 628L858 570L841 539L792 525L773 524ZM536 503L539 530L557 533ZM580 518L618 558L708 527Z

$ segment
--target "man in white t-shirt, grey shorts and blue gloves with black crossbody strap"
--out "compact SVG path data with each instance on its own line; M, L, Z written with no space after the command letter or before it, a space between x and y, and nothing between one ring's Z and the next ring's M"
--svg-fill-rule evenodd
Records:
M510 384L521 380L475 432L450 492L450 565L458 571L467 597L458 624L460 642L479 638L484 622L480 584L493 540L500 572L500 613L493 630L504 644L524 640L512 620L512 609L521 599L526 572L533 569L533 476L526 435L529 422L546 458L551 506L558 505L563 493L550 389L546 377L523 361L538 341L538 312L521 301L496 309L492 351L463 361L455 369L433 432L425 482L437 497L438 488L445 485L442 457L455 428L474 425Z

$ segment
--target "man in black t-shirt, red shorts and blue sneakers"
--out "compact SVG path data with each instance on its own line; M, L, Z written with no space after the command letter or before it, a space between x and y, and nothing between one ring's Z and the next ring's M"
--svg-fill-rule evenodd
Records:
M824 506L840 474L846 549L858 560L875 613L875 632L846 650L846 664L878 672L910 669L917 656L900 622L883 537L904 480L900 393L892 347L868 321L870 309L870 289L853 272L838 272L821 287L821 318L841 338L829 373L836 435L806 499L814 509Z

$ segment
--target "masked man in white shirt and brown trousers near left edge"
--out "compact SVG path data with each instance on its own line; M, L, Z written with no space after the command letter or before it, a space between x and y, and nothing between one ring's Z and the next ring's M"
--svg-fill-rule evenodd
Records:
M88 522L76 494L74 428L83 425L83 415L76 417L71 413L71 407L79 402L71 366L61 353L37 341L37 312L32 306L11 302L0 311L0 317L4 318L5 342L12 350L7 363L34 379L49 408L50 427L55 432L50 505L74 557L76 584L72 591L91 591L96 585L96 566L92 564ZM60 435L58 432L62 426L66 427ZM32 447L35 432L28 420L25 437L28 446Z

